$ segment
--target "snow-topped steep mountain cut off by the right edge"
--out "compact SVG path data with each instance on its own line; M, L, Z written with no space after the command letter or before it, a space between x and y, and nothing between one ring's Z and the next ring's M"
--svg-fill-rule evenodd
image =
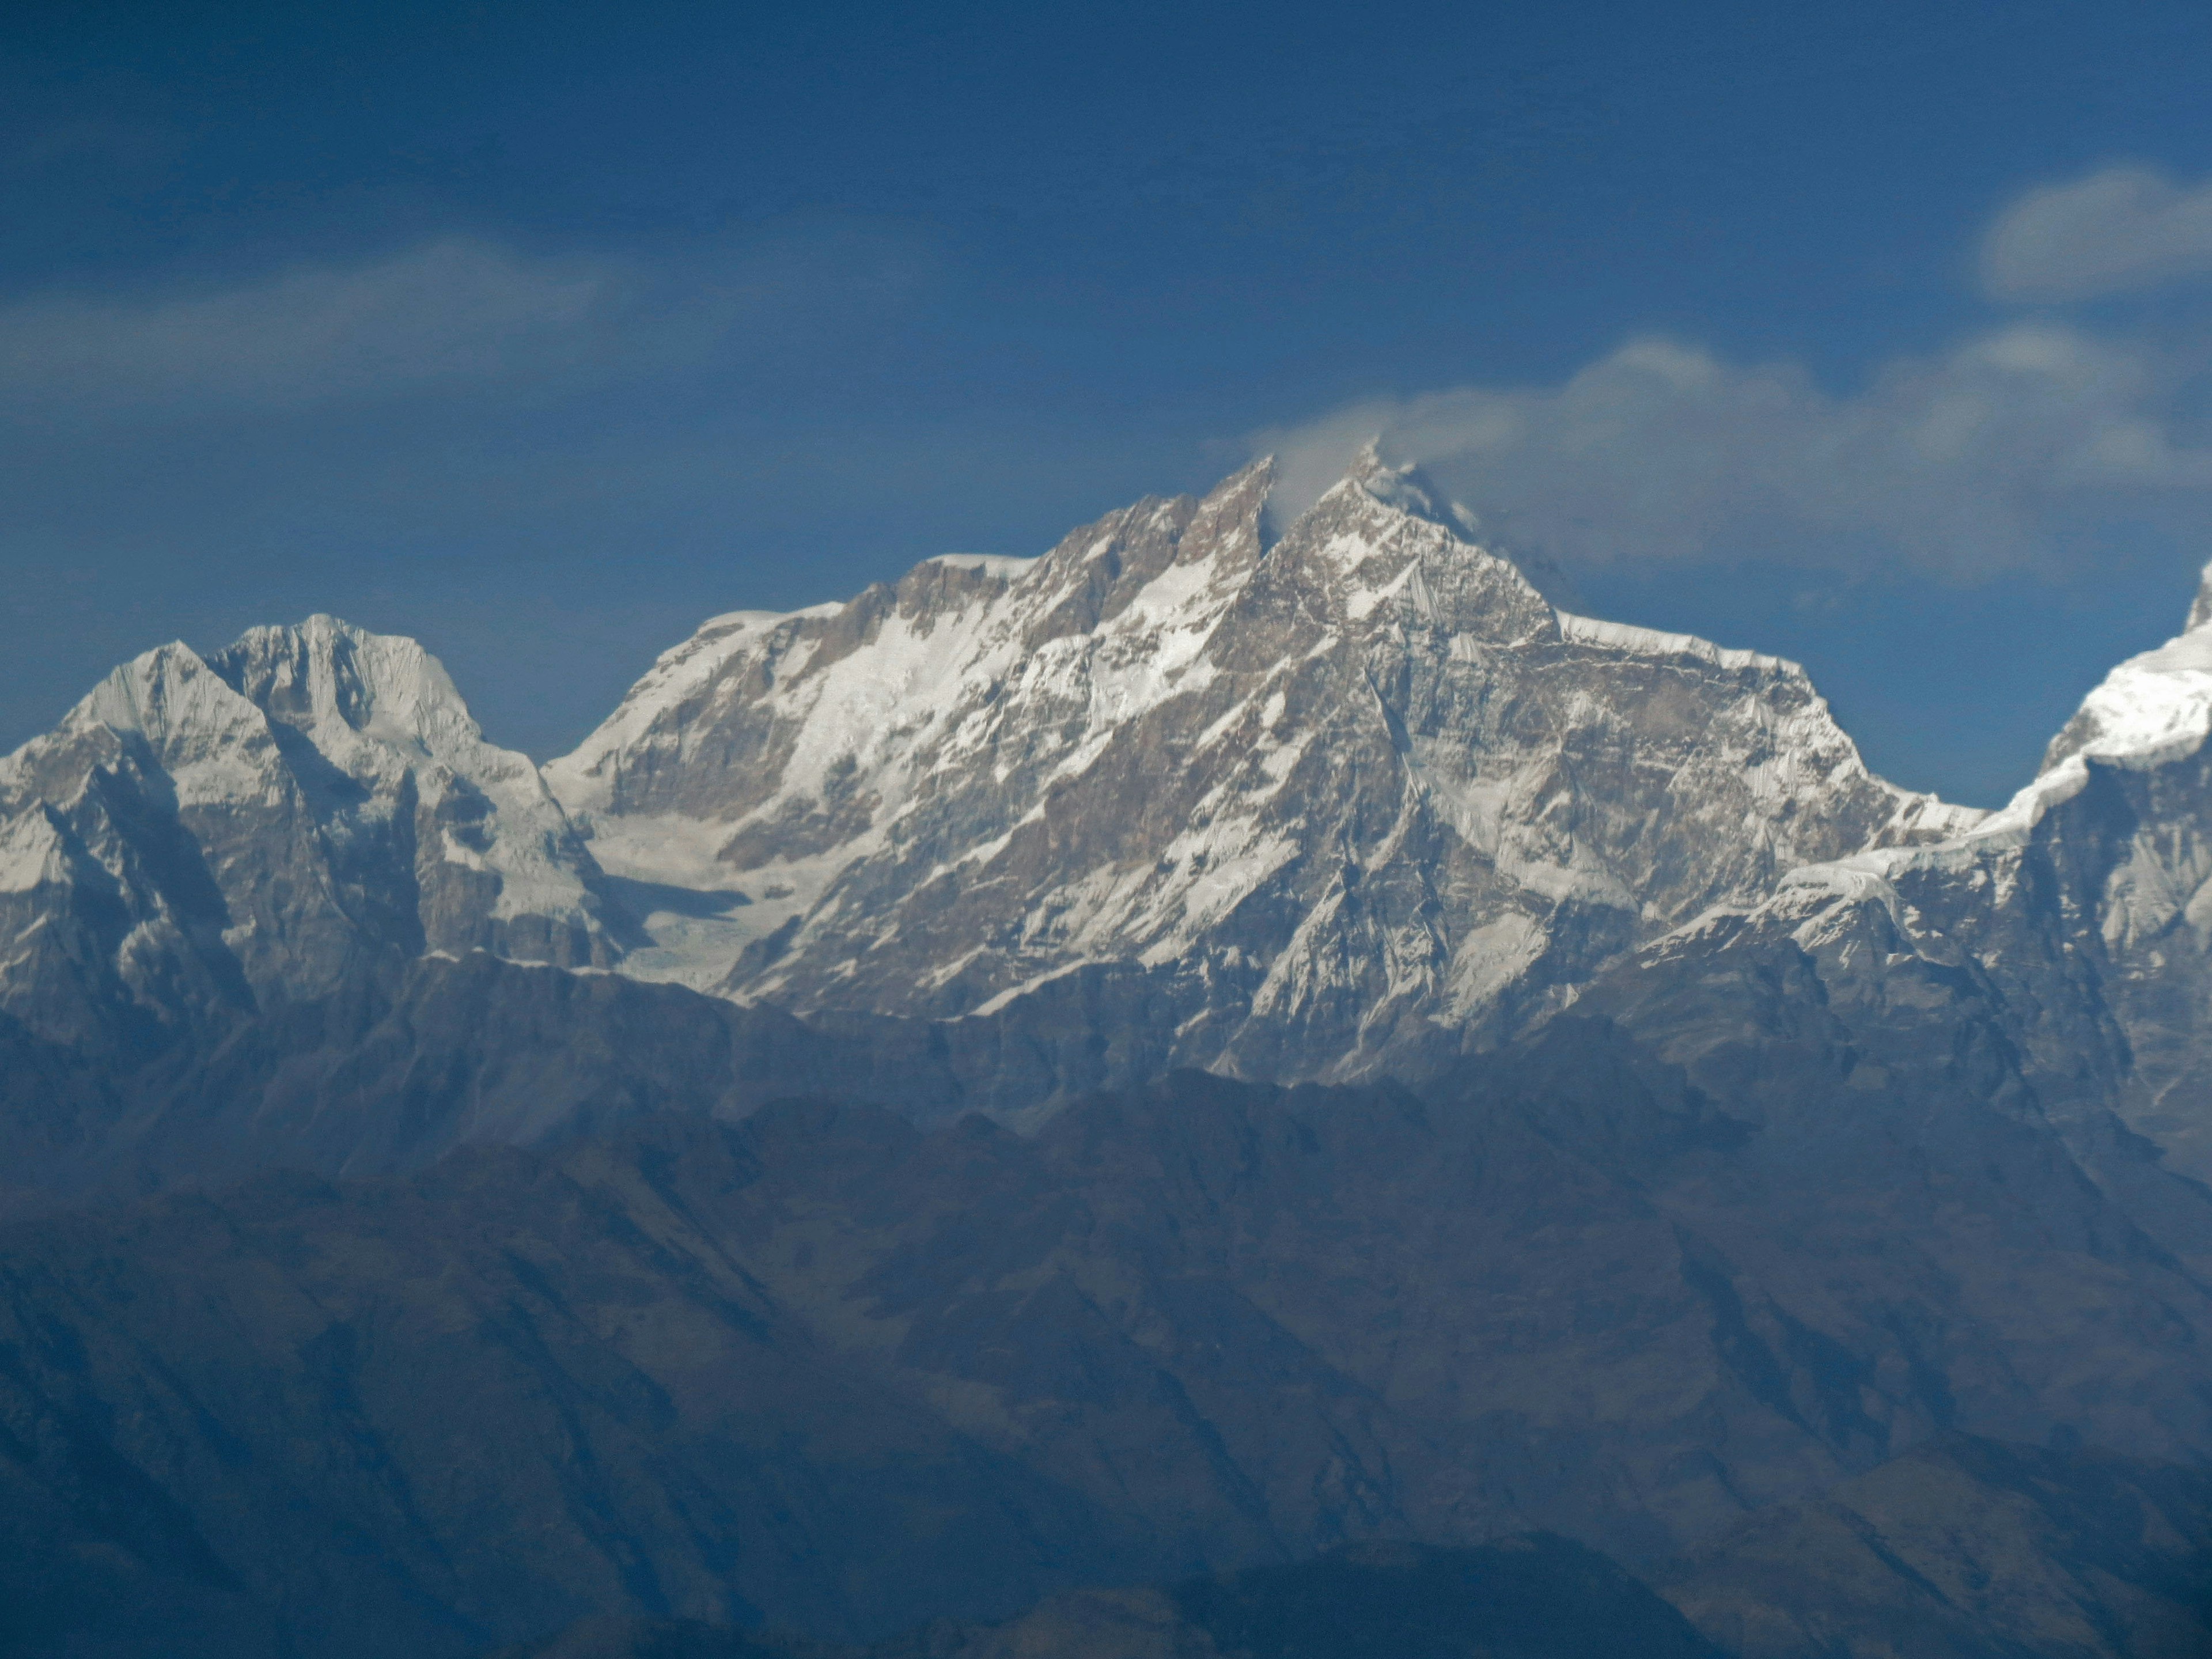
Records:
M1655 942L1644 967L1701 973L1787 947L1885 1031L1971 995L2020 1053L2035 1110L2090 1135L2117 1110L2170 1168L2212 1179L2208 734L2199 597L2183 635L2084 699L2002 812L1933 845L1787 872L1756 907Z

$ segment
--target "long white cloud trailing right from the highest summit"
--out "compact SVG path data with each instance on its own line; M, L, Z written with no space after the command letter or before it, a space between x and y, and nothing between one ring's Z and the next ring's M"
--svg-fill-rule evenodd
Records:
M2101 513L2212 504L2170 354L2053 323L1900 358L1851 396L1644 338L1557 387L1458 387L1263 431L1296 511L1380 434L1509 544L1568 568L1770 560L1942 580L2055 566Z

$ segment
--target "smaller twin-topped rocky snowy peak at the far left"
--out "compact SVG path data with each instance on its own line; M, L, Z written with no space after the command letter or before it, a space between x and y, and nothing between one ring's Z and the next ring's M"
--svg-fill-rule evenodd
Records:
M380 953L619 956L597 867L411 639L161 646L0 759L0 1011L108 1037L312 1000Z

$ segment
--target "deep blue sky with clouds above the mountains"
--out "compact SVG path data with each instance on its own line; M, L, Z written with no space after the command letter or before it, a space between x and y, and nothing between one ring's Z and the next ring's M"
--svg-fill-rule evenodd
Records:
M20 7L0 743L420 635L553 754L703 615L1422 460L1997 801L2212 557L2201 7Z

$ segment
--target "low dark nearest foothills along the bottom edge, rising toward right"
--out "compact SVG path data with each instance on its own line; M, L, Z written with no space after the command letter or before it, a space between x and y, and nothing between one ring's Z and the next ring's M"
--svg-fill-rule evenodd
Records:
M1542 1533L1347 1544L1296 1566L1068 1590L1002 1624L942 1621L865 1650L591 1619L495 1659L2197 1659L2212 1650L2212 1475L1951 1433L1761 1513L1655 1584L1666 1601Z

